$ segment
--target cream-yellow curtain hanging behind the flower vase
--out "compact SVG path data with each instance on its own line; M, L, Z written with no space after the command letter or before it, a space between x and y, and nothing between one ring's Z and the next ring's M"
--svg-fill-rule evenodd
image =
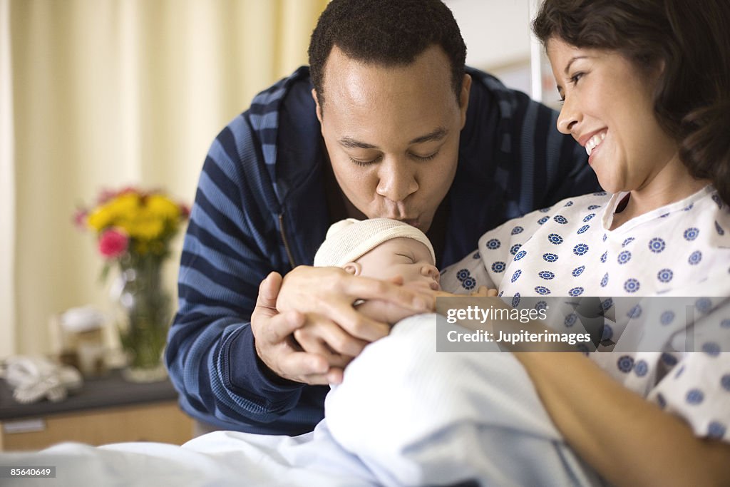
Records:
M0 0L0 357L47 353L51 315L108 306L77 205L125 185L192 203L215 135L306 64L326 3Z

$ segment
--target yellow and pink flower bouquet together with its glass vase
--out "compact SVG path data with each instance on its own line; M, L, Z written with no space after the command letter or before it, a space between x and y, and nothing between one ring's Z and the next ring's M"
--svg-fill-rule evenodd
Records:
M102 191L94 207L80 208L74 217L77 226L96 234L104 257L102 278L112 267L119 271L112 299L128 380L145 382L166 375L162 351L172 316L161 271L172 238L189 215L185 204L162 191L128 187Z

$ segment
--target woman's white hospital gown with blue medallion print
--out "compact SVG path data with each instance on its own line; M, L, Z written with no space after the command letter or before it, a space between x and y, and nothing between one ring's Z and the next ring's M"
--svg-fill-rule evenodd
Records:
M602 338L616 344L612 353L591 358L624 386L680 415L697 436L730 442L729 207L707 186L609 230L626 195L566 199L504 223L442 273L442 287L463 293L486 285L517 305L523 296L599 296L613 316ZM612 309L623 296L637 304ZM680 351L677 340L684 337L688 296L697 298L691 299L696 320L689 323L697 352ZM624 332L632 322L651 333ZM567 315L562 325L574 323ZM648 336L653 344L642 346Z

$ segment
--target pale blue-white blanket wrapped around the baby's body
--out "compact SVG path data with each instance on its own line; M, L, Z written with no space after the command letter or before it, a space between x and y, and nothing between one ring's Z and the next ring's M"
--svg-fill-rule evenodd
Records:
M347 366L325 400L338 445L385 487L603 485L512 353L437 352L437 321L448 328L439 315L406 318Z

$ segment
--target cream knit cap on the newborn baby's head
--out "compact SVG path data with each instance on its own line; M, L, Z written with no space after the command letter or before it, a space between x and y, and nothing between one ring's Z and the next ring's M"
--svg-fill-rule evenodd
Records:
M315 266L342 267L348 262L356 261L383 242L398 237L415 239L426 245L431 259L436 262L436 254L429 238L415 226L390 218L347 218L332 223L329 227L325 241L315 254Z

